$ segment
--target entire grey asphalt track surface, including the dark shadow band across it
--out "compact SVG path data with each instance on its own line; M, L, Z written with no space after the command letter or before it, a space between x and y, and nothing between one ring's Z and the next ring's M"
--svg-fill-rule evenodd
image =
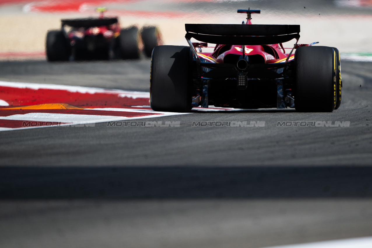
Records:
M0 62L0 80L146 91L149 65ZM211 111L151 119L180 121L173 128L0 132L0 247L254 248L372 236L372 67L342 61L341 71L343 102L332 113Z

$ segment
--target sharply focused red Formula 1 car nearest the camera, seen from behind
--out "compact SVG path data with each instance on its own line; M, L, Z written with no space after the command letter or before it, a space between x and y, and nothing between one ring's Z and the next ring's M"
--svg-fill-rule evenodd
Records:
M189 46L154 48L153 110L186 112L193 106L214 105L331 112L340 106L336 48L298 44L299 25L252 25L251 14L260 10L238 13L247 14L244 25L185 24ZM296 44L285 51L282 43L292 39ZM208 43L217 44L214 51L201 52Z

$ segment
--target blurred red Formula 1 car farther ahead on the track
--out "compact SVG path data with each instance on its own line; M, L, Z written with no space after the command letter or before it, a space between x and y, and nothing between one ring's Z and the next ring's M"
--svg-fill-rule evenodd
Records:
M61 30L48 31L45 44L48 61L138 59L142 51L150 57L153 48L162 44L157 27L121 29L117 17L104 17L105 8L97 10L99 18L62 19ZM70 30L66 31L67 27Z

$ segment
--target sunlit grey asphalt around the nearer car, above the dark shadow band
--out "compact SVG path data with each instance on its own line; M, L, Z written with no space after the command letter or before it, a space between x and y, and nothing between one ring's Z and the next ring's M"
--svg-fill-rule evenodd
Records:
M148 91L150 61L2 62L0 80ZM294 109L200 112L151 119L180 127L42 128L1 133L1 164L371 165L371 63L343 62L343 100L331 113ZM139 78L136 80L136 78ZM265 121L264 127L192 127L199 121ZM350 121L350 127L278 127L283 121Z

